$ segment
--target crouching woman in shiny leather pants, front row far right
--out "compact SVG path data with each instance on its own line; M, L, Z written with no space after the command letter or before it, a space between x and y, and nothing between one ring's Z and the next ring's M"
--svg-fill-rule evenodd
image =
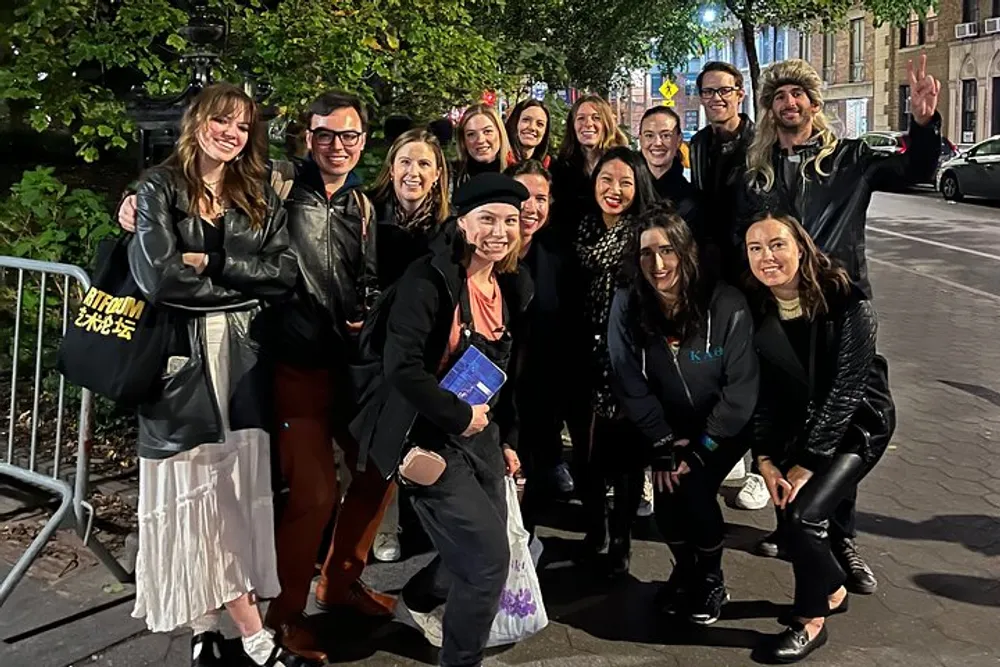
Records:
M788 627L760 650L797 662L826 643L826 617L847 611L830 519L885 452L895 406L888 366L875 354L875 309L802 225L765 214L747 230L746 248L760 301L753 451L795 573Z

